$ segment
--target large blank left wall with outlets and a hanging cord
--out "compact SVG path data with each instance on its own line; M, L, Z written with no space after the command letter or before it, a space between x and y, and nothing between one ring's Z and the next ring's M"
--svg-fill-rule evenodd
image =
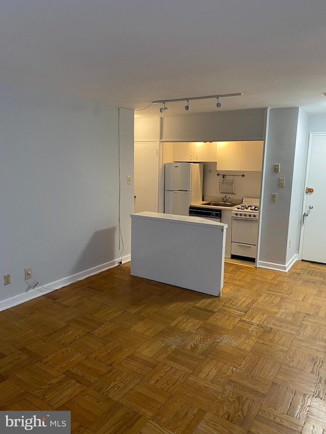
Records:
M112 265L118 250L118 109L0 86L0 300ZM122 175L133 174L133 111L121 110ZM124 255L132 186L122 183ZM0 306L1 308L1 306Z

